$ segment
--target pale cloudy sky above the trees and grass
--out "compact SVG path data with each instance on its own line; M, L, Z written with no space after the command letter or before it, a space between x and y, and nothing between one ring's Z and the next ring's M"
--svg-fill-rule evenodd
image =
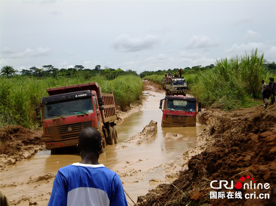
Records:
M258 48L276 61L276 1L3 1L1 68L207 66Z

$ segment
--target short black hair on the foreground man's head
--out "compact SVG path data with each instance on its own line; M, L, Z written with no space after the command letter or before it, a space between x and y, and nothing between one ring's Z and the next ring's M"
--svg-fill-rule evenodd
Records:
M84 150L96 152L101 145L101 134L95 128L84 128L80 131L78 144L80 145L80 148Z

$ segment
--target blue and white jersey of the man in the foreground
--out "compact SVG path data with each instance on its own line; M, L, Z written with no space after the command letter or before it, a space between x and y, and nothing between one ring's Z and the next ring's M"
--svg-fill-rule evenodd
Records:
M74 163L58 170L48 206L128 205L122 182L103 164Z

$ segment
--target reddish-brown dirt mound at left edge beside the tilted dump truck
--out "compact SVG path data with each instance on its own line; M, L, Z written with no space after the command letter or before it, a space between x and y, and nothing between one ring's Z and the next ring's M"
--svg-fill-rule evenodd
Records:
M0 142L1 168L32 157L44 145L42 130L33 132L19 125L0 128Z

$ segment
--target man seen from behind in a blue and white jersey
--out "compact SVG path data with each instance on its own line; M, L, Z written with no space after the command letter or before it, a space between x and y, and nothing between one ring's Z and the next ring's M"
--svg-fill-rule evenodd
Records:
M58 170L48 206L127 206L118 174L98 162L102 148L98 130L84 128L78 143L81 161Z

